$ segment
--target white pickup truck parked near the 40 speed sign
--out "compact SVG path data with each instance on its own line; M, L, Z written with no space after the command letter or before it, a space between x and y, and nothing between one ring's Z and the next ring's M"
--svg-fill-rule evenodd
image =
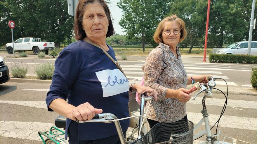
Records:
M8 54L13 54L13 43L7 43L5 49ZM44 51L48 54L49 50L54 49L54 42L41 42L41 38L19 38L14 41L14 51L33 51L37 54L40 51Z

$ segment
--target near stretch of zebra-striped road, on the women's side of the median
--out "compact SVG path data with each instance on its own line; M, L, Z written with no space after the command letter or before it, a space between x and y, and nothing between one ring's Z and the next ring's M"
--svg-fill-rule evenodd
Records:
M44 105L47 90L46 83L7 82L0 85L0 143L1 144L42 144L37 131L50 129L58 114L49 112ZM40 91L41 90L41 91ZM196 92L192 93L194 96ZM203 95L187 103L188 119L195 124L201 119ZM213 125L225 102L224 96L214 93L213 99L206 100L210 124ZM237 105L235 103L237 102ZM43 105L41 105L43 104ZM250 143L257 143L257 97L252 95L230 94L218 130L225 136L237 138ZM255 106L254 106L255 105ZM203 130L200 126L199 130ZM213 128L212 132L215 132ZM204 141L204 137L199 141Z

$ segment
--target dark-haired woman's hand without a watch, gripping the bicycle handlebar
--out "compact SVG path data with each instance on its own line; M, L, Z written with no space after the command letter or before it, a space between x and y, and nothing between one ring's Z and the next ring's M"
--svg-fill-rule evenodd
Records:
M95 109L88 102L81 104L71 111L72 120L76 120L76 118L80 121L82 120L91 120L95 114L102 113L102 109Z

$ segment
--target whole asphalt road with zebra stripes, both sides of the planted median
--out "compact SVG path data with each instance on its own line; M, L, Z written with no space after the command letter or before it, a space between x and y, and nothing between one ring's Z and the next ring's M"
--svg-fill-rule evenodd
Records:
M119 59L119 56L117 58ZM10 69L15 64L28 67L28 74L31 75L34 75L36 65L53 64L55 61L54 59L10 58L8 55L4 59ZM128 78L134 78L131 81L140 82L143 76L140 69L145 57L128 56L128 59L131 61L120 61L121 67ZM251 88L250 83L251 67L257 67L257 65L202 63L200 56L182 56L182 60L188 75L209 74L224 78L228 82L228 105L218 127L222 134L252 144L257 143L257 93ZM217 79L216 84L216 88L225 92L226 86L222 80ZM50 84L46 83L15 82L0 85L0 144L42 144L37 131L50 129L55 117L58 116L55 112L48 112L44 104L49 86ZM213 93L213 99L206 100L210 125L214 125L218 120L225 102L221 93L216 91ZM195 94L196 92L192 93L192 96ZM191 99L187 103L188 119L194 124L202 118L200 113L202 97L203 95L199 95L195 101ZM198 131L203 129L204 125L201 125ZM215 130L213 128L212 132ZM203 136L195 143L204 139ZM228 142L232 143L232 141Z

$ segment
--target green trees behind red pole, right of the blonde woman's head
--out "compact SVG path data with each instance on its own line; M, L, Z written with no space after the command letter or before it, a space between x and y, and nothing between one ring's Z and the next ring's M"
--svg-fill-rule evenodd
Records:
M180 44L181 46L192 48L193 46L204 45L207 5L208 2L204 0L175 0L171 2L168 15L175 13L186 23L188 35ZM248 40L251 6L251 0L212 0L208 46L220 48L223 44ZM256 17L257 13L254 15ZM256 30L253 30L252 40L257 40Z

